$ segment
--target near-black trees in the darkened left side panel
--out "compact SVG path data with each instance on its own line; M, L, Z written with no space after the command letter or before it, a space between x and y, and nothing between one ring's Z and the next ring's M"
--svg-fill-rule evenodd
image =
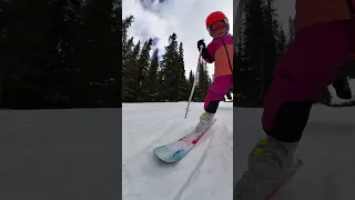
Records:
M121 107L116 0L0 2L0 108Z

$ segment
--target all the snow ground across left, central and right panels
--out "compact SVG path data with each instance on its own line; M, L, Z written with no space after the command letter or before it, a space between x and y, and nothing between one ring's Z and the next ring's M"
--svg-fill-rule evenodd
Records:
M124 103L122 119L121 109L0 110L0 199L116 200L122 187L123 200L231 200L233 177L264 137L262 109L221 102L195 148L163 163L153 149L192 131L203 111L192 103L183 119L185 107ZM313 107L296 151L304 167L274 200L355 199L354 116L355 108Z

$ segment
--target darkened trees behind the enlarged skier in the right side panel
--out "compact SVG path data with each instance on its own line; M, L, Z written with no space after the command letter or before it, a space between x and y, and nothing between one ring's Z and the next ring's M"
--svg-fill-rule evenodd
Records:
M287 33L277 20L275 0L247 0L241 26L241 37L234 54L234 106L263 107L280 56L294 42L294 19L288 18ZM343 64L349 78L355 78L355 57ZM316 79L316 78L315 78ZM332 104L327 87L317 102ZM354 104L354 102L345 104Z

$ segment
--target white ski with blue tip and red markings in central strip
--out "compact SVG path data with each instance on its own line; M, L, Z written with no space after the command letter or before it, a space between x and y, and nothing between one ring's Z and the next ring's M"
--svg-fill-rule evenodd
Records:
M202 136L205 132L207 132L207 130L210 130L210 128L215 123L215 121L216 119L203 132L193 131L186 134L185 137L179 139L178 141L155 148L153 150L154 154L164 162L178 162L190 152L190 150L199 142Z

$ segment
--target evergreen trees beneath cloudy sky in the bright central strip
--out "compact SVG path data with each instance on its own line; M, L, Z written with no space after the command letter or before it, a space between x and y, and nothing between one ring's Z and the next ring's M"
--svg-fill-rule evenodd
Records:
M134 38L129 38L133 22L133 16L122 21L122 102L189 100L195 76L192 70L185 76L183 42L173 32L160 59L153 39L134 43ZM201 63L193 101L203 101L210 84L206 64Z

